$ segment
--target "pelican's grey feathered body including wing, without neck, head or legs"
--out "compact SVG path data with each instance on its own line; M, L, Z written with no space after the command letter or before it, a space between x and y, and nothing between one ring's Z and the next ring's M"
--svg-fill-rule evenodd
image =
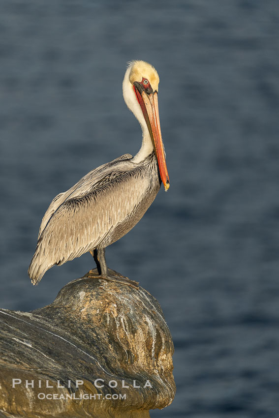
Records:
M52 266L122 238L152 204L160 184L154 152L140 163L125 154L57 195L40 226L28 271L32 283Z

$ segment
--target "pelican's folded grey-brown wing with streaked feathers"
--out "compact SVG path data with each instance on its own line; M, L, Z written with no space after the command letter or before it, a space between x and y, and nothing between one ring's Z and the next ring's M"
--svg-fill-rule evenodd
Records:
M89 179L93 172L77 183L41 232L29 268L32 282L38 283L55 264L98 246L129 217L150 187L145 170L131 161L119 161L105 165L103 175L98 180L94 177L93 184Z

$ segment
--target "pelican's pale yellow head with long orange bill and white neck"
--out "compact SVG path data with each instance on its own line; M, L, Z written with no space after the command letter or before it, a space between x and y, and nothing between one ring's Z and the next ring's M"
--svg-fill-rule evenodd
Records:
M123 96L126 105L141 124L143 141L148 150L147 138L155 150L160 176L165 190L169 188L169 176L162 142L159 108L159 76L155 68L145 61L132 61L123 80Z

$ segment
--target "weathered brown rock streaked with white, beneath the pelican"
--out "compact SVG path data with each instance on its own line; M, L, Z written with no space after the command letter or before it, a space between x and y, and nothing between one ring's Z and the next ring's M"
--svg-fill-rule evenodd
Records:
M96 274L43 308L0 310L0 414L150 417L172 402L173 343L160 305Z

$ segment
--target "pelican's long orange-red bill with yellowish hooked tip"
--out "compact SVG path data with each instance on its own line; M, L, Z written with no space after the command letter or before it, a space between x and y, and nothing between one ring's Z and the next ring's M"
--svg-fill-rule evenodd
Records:
M134 90L142 109L144 119L146 120L146 124L155 149L160 176L165 191L167 191L170 186L170 182L160 127L158 93L155 91L147 94L144 89L138 89L137 86L134 88Z

